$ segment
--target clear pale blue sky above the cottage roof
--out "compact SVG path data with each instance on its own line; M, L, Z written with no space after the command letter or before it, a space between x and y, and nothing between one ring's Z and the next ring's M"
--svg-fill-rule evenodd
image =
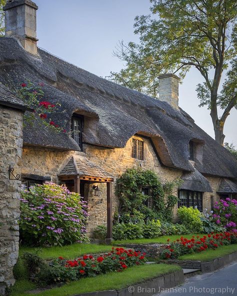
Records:
M98 76L119 71L124 64L113 56L119 40L138 42L134 17L148 14L149 0L35 0L38 46ZM223 77L224 78L224 77ZM179 106L214 137L209 110L198 107L196 84L203 79L191 69L179 85ZM222 79L223 80L223 79ZM220 110L221 112L221 110ZM221 113L220 113L221 114ZM225 142L237 146L237 110L225 127Z

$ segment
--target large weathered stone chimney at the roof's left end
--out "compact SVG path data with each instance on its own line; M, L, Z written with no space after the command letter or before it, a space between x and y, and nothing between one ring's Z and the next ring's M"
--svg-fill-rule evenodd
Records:
M30 0L7 0L5 11L5 37L20 41L25 50L37 55L36 10Z

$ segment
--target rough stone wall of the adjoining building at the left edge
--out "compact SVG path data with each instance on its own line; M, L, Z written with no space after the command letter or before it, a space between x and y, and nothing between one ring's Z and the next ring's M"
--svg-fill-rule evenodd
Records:
M20 174L22 112L0 106L0 295L14 283L18 256L19 180L9 180L9 165Z

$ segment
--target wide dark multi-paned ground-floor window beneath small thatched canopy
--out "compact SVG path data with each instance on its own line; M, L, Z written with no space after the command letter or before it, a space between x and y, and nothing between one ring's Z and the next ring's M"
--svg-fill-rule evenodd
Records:
M186 198L181 198L184 201L180 201L180 193L185 192ZM186 200L186 201L185 201ZM186 190L186 189L179 189L178 190L178 207L186 206L193 208L197 206L197 209L202 212L203 210L203 192L201 191L193 191L193 190Z

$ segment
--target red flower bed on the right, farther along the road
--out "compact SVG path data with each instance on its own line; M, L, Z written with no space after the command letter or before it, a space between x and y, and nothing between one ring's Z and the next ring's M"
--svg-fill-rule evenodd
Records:
M215 249L221 245L227 245L236 243L237 233L234 232L222 232L222 233L211 233L203 235L202 237L192 236L191 239L184 238L180 239L166 245L166 247L160 253L161 258L165 259L175 259L180 255L201 252L208 248ZM167 239L169 241L170 239Z

